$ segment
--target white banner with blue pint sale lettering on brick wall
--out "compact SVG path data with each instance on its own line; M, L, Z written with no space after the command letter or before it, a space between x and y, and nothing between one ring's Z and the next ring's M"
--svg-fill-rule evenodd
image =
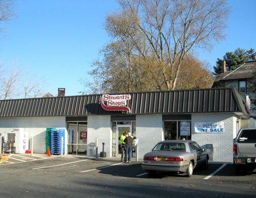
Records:
M196 133L224 133L225 123L195 122Z

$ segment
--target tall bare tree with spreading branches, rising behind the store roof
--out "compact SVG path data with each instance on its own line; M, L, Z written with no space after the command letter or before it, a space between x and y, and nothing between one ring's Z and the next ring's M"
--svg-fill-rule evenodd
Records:
M161 69L161 89L176 87L180 66L196 48L224 39L230 8L225 0L120 0ZM166 88L165 88L166 87Z

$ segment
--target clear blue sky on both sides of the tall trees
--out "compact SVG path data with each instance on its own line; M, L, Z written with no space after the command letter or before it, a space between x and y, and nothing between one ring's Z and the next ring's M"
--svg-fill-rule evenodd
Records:
M232 13L225 30L227 38L211 52L198 57L211 66L225 52L256 49L256 0L230 0ZM118 9L116 0L17 0L18 18L6 25L0 39L0 61L17 62L29 74L48 79L45 92L66 95L83 90L81 78L89 78L91 62L109 41L103 29L105 15Z

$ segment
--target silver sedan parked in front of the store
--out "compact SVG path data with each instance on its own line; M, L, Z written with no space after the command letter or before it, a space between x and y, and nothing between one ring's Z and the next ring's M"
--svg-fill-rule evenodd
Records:
M142 168L150 175L157 171L183 172L188 177L196 166L208 167L209 154L194 141L169 140L158 143L144 155Z

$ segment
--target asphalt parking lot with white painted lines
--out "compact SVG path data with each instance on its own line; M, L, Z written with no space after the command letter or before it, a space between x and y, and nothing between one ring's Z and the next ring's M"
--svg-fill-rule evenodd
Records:
M256 197L256 172L236 176L231 164L209 164L187 178L170 173L150 177L141 161L25 154L13 154L8 161L13 163L0 163L1 198Z

